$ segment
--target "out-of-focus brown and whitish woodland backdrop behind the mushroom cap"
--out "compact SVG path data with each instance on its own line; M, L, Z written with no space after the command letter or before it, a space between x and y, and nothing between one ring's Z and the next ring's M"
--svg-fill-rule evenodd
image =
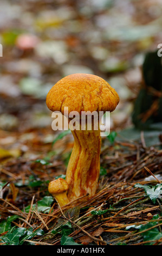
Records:
M145 124L158 109L154 97L161 97L161 9L161 0L1 0L0 132L1 139L8 136L2 144L12 143L11 132L46 129L50 142L46 95L62 77L79 72L101 76L118 92L111 130L140 127L141 108L134 113L134 105L147 102ZM150 80L148 86L159 82L153 98L145 91L137 101Z

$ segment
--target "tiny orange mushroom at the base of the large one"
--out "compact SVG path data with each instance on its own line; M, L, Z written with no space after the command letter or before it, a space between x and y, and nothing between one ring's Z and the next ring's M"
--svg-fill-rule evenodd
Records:
M55 197L56 201L60 204L60 206L69 203L69 200L67 198L68 187L69 186L66 180L62 178L49 182L48 191L50 194L53 195L53 197Z

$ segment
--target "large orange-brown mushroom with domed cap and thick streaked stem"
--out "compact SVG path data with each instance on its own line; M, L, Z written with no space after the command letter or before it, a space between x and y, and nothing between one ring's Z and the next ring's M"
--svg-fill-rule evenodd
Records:
M69 128L74 136L74 147L66 172L66 181L69 185L67 197L69 201L89 194L93 196L98 187L100 175L100 118L92 122L92 129L82 129L80 119L82 113L112 112L119 103L119 96L103 78L90 74L72 74L62 78L49 91L46 99L51 111L60 111L68 107ZM77 129L72 129L71 112L79 113L76 121ZM73 112L74 113L74 112ZM88 118L87 118L88 119ZM79 129L78 129L79 127Z

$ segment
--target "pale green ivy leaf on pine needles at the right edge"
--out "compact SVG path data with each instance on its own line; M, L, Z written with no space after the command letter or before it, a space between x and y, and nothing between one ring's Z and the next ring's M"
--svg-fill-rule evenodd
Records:
M157 198L160 196L160 193L162 192L162 183L157 184L155 186L147 186L147 185L141 185L139 183L135 184L134 187L141 187L144 188L145 193L147 196L152 200L152 202L155 204L157 201Z

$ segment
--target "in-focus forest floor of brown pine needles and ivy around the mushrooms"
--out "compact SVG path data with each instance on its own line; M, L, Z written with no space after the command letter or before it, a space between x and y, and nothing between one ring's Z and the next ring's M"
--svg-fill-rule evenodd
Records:
M42 159L31 160L25 154L3 157L1 243L160 245L162 178L158 175L162 151L156 145L143 147L140 141L118 141L118 137L117 133L113 143L109 137L102 139L101 167L106 173L101 172L96 194L62 208L48 193L48 183L66 174L63 152L49 153L55 149L55 143L61 147L62 140L70 142L68 150L72 151L73 141L68 133L57 140L55 137L55 143L48 143L48 147L45 144ZM37 143L44 148L42 141ZM35 150L33 145L30 149ZM47 155L48 161L44 161ZM9 184L5 186L7 180Z

